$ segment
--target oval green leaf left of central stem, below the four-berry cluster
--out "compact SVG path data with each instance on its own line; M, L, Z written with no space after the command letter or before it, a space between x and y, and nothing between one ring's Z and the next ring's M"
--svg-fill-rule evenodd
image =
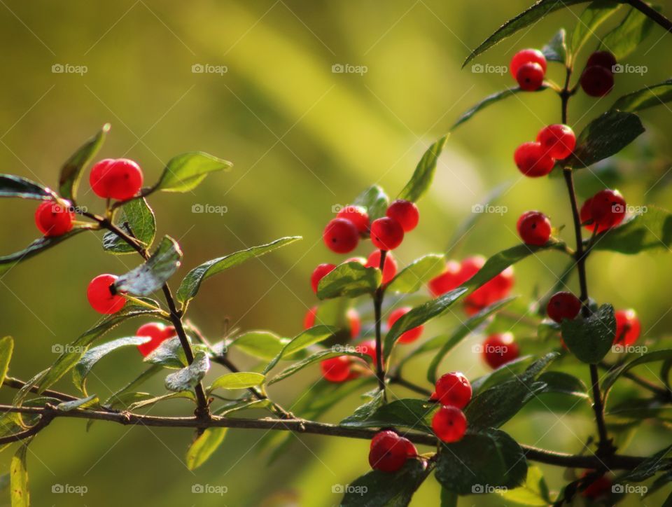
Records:
M373 293L380 285L382 274L377 268L365 268L353 261L342 263L325 275L317 286L317 297L356 298Z

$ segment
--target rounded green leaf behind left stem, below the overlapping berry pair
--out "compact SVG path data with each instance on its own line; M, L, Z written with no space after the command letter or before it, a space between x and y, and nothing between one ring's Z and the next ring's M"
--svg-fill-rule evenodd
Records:
M139 239L146 248L154 241L156 233L156 220L154 212L144 198L134 199L120 209L121 216L118 219L118 227ZM114 232L108 231L103 236L103 249L111 253L135 253L135 249Z

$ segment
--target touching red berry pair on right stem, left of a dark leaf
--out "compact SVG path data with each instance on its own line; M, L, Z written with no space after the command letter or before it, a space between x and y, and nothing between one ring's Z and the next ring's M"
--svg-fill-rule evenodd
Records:
M556 160L572 154L576 136L568 125L557 123L542 128L536 141L528 141L516 148L513 154L516 166L525 176L537 178L553 170Z

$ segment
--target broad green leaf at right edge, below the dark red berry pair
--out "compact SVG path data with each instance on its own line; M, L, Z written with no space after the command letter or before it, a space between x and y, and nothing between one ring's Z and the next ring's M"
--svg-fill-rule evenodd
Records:
M593 249L628 255L652 249L669 250L672 246L672 214L654 206L643 209L643 214L633 216L605 232Z

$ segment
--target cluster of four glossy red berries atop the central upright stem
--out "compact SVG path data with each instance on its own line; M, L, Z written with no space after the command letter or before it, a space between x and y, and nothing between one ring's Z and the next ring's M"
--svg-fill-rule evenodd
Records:
M413 202L395 200L386 216L369 225L369 216L360 206L347 206L330 221L322 235L324 243L336 253L353 251L360 236L370 235L377 249L393 250L401 244L404 233L413 230L419 221L419 211Z

